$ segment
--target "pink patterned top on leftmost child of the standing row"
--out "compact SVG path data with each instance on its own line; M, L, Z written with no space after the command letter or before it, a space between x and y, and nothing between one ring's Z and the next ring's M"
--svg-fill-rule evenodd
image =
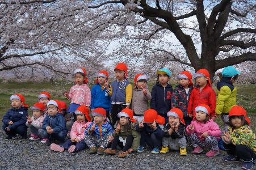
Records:
M75 84L75 86L70 88L68 99L71 100L71 103L86 105L87 107L90 107L91 90L87 84L82 84L81 86Z

